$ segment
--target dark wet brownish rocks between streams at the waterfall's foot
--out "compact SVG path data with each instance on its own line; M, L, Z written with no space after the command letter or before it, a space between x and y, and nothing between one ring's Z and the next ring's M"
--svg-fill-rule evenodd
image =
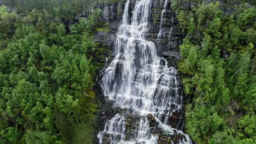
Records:
M136 114L130 109L127 108L120 108L113 106L114 101L109 100L106 105L104 106L104 110L100 113L99 118L99 130L104 131L104 126L108 120L111 120L117 113L125 116L126 119L126 132L124 136L124 140L131 140L138 134L138 126L140 124L141 116ZM183 121L181 117L184 115L182 111L173 110L172 116L168 119L168 124L172 128L178 127L179 123ZM159 127L159 122L157 122L156 118L153 114L147 114L146 118L148 120L150 132L152 134L158 135L158 144L179 144L179 142L186 140L185 136L181 134L179 130L174 130L172 134L166 134L162 132L161 128ZM183 119L183 118L182 118ZM108 132L102 132L102 142L103 144L110 144L111 134ZM120 139L122 136L116 136L116 140Z

